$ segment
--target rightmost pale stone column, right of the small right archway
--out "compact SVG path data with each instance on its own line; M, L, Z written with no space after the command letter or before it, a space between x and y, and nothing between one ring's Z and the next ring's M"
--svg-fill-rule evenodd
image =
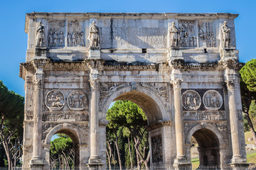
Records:
M228 106L230 111L230 133L231 133L231 140L232 140L232 150L233 150L233 157L232 163L241 163L243 162L241 153L240 153L240 142L239 142L239 123L238 123L238 113L235 103L235 87L237 80L235 77L226 77L226 84L228 87Z

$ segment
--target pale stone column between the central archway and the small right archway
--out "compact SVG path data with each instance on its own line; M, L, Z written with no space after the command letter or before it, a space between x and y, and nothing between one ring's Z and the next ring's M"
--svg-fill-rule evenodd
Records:
M181 82L181 79L171 80L171 84L173 84L174 87L175 132L177 152L176 159L174 159L174 166L178 167L189 164L189 160L186 158L185 139L183 137Z

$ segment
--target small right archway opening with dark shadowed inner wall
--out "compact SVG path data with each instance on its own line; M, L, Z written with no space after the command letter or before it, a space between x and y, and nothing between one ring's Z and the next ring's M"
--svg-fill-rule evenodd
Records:
M214 132L206 128L196 130L191 137L191 153L199 154L199 166L220 166L220 143ZM192 159L193 164L193 159Z

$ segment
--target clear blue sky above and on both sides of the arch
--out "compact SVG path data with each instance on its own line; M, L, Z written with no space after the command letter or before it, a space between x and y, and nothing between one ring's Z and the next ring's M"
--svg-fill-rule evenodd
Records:
M256 58L255 0L0 0L0 80L24 96L24 81L18 77L19 63L25 62L27 35L26 13L36 12L149 12L149 13L239 13L235 19L240 62Z

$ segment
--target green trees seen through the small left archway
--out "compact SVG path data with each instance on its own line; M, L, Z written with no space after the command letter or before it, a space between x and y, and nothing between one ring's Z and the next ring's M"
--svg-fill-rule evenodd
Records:
M71 169L74 166L75 150L70 137L58 134L50 142L50 168Z

